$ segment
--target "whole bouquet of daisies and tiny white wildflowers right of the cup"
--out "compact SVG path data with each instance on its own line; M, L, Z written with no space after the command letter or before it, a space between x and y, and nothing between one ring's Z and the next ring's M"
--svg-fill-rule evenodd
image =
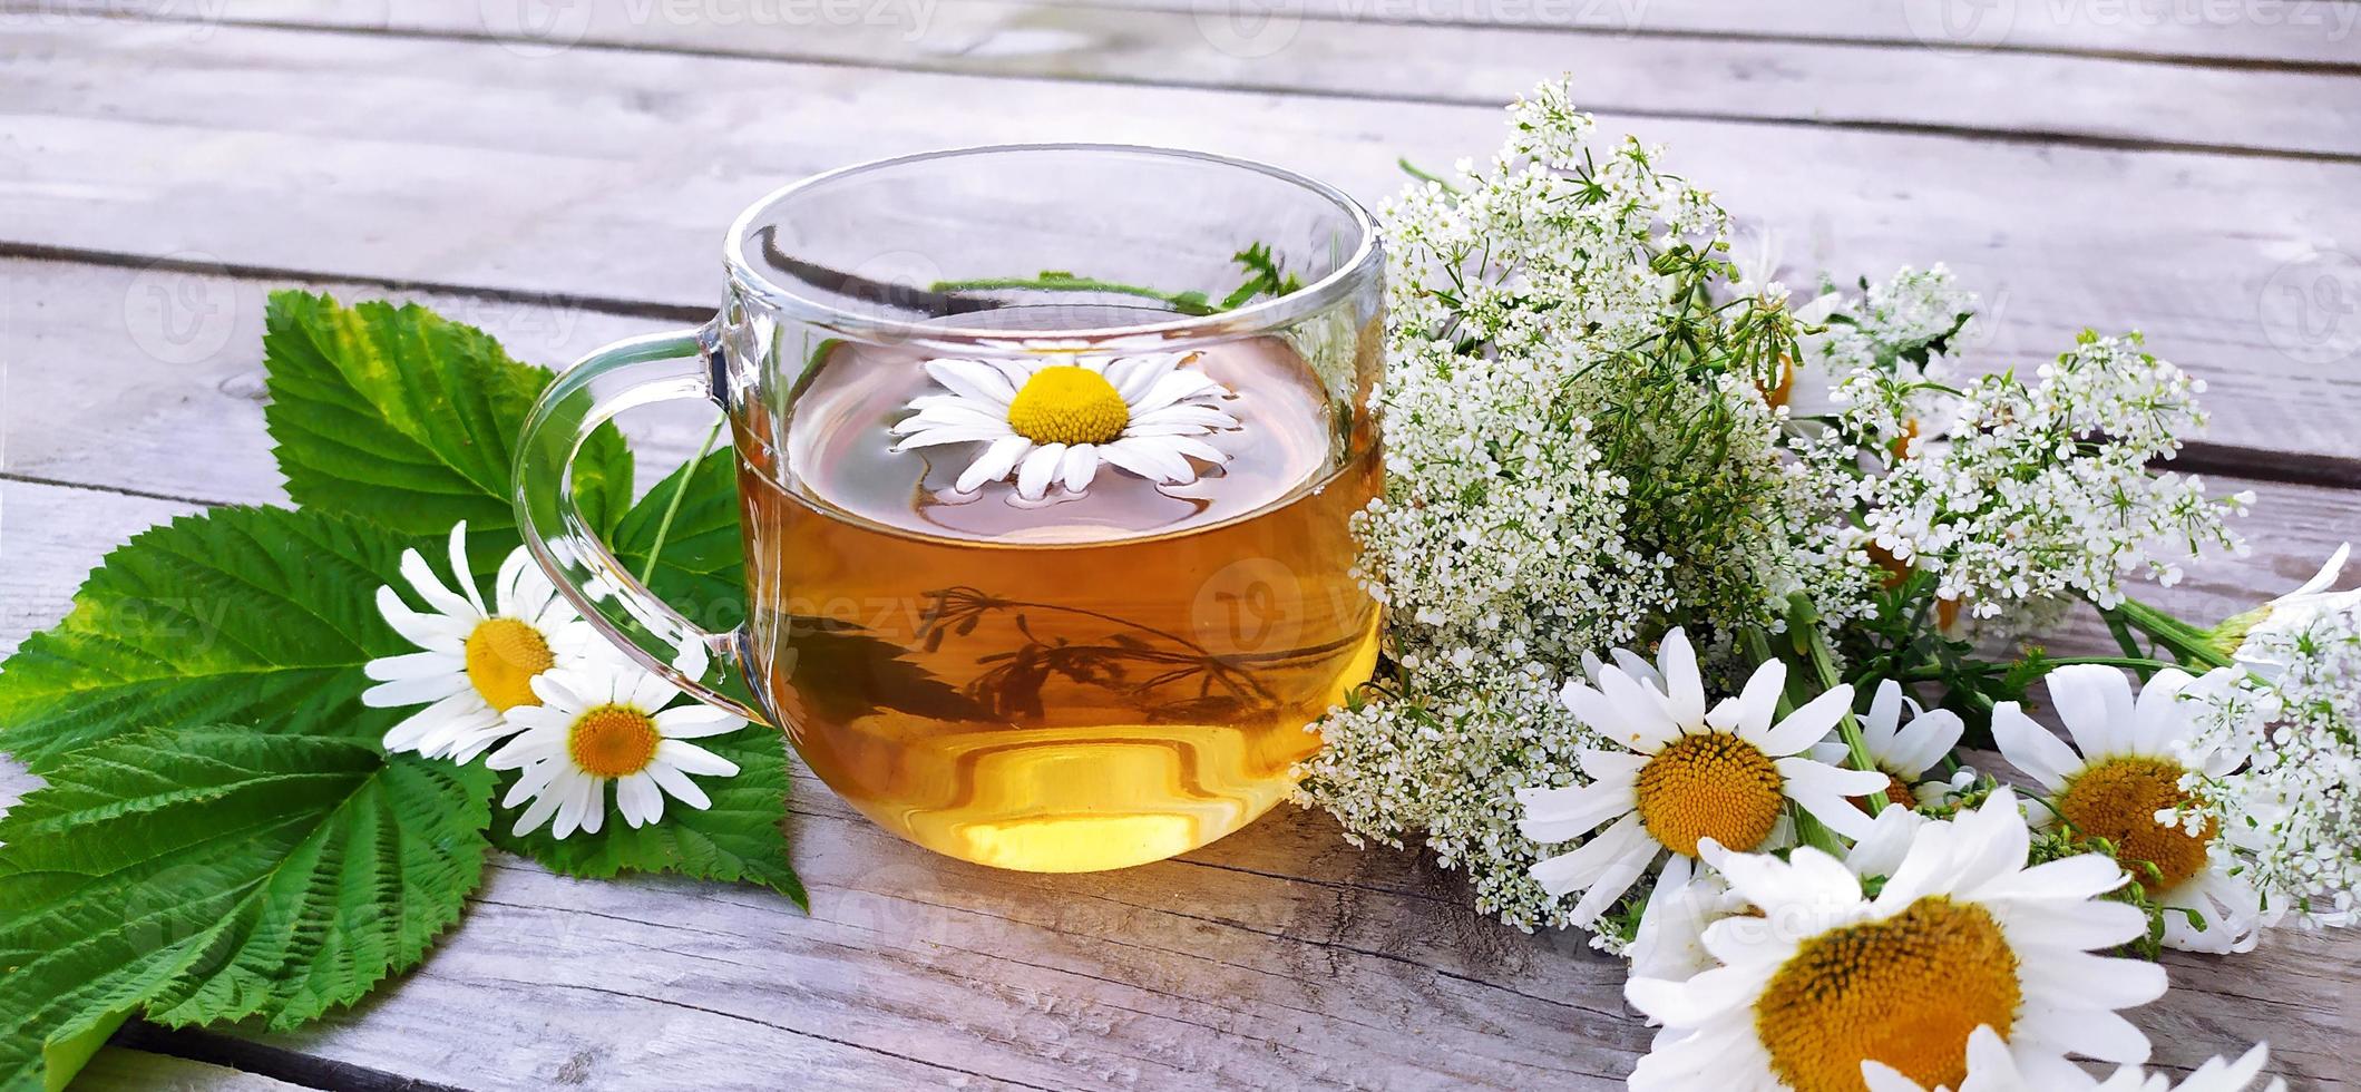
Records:
M2125 586L2245 551L2252 496L2151 470L2203 383L2137 333L1964 376L1943 267L1790 295L1565 87L1511 128L1384 210L1388 657L1301 801L1629 955L1665 1023L1634 1087L2078 1087L2066 1054L2146 1059L2113 1009L2165 988L2097 953L2354 919L2342 555L2222 626ZM2120 655L1988 655L2078 607Z

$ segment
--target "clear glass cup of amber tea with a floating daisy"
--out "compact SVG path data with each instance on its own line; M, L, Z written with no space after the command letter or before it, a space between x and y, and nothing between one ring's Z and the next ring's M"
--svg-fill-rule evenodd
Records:
M722 262L713 321L593 352L519 444L524 541L616 648L985 865L1159 860L1287 797L1379 652L1360 206L1195 151L937 151L770 194ZM590 430L673 397L727 414L741 603L668 605L576 511Z

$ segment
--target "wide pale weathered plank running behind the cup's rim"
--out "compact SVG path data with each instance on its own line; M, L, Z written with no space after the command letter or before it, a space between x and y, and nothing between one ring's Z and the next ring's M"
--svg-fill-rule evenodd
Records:
M1112 85L1077 97L1051 80L848 80L833 66L619 50L519 59L491 43L238 26L203 40L120 21L19 28L0 50L17 54L0 95L26 111L0 147L21 163L0 175L14 243L666 307L711 303L715 236L779 180L947 135L1190 144L1376 199L1395 189L1398 154L1450 161L1499 130L1476 106ZM519 64L534 66L527 90ZM2045 359L2082 326L2141 326L2215 383L2229 442L2337 456L2337 473L2361 477L2361 435L2323 411L2361 397L2361 376L2335 366L2356 333L2309 307L2337 288L2361 298L2361 260L2335 251L2361 239L2356 165L1639 128L1790 239L1806 277L1830 260L1948 260L1993 305L1971 345L1988 362Z

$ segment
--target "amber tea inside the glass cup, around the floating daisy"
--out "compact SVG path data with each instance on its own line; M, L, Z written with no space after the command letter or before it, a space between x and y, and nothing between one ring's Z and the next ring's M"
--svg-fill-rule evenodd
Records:
M1287 797L1379 643L1348 574L1379 459L1336 440L1294 352L1197 362L1240 395L1228 468L1103 468L1036 506L954 494L968 444L888 451L928 378L836 352L786 473L739 447L756 681L822 780L921 846L1036 872L1169 858Z

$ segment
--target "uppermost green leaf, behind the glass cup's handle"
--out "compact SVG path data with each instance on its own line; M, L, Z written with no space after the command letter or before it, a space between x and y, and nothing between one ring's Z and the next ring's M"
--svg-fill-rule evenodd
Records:
M467 520L484 563L515 546L510 459L548 369L425 307L272 293L264 414L288 496L416 537ZM574 459L595 527L630 503L630 451L600 428ZM505 541L508 546L498 546Z

